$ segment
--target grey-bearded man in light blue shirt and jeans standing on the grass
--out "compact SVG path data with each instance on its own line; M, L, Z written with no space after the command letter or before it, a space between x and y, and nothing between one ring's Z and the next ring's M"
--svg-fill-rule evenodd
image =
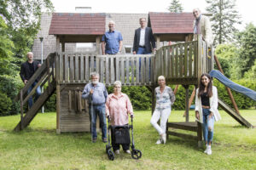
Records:
M108 97L108 91L105 85L99 82L99 78L100 76L96 72L90 74L90 83L84 87L82 98L88 99L89 103L92 142L95 143L97 139L96 118L99 116L102 127L102 141L106 143L108 140L105 103Z

